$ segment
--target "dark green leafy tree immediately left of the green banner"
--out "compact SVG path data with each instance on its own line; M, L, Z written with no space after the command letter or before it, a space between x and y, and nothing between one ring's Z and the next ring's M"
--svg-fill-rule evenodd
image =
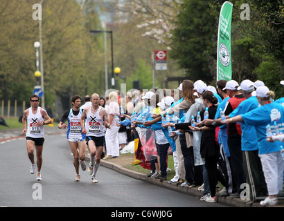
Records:
M206 1L184 1L176 17L176 28L172 30L170 54L193 81L213 79L208 63L215 58L213 39L217 39L214 36L215 17L207 10Z

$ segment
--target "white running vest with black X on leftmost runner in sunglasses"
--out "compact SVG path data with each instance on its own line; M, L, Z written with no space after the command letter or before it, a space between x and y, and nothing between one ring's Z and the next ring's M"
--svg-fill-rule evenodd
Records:
M26 131L26 137L42 138L44 137L44 126L39 126L38 122L44 121L44 118L40 114L41 107L37 108L37 113L33 114L32 108L28 108L28 118L26 119L28 123L28 128Z

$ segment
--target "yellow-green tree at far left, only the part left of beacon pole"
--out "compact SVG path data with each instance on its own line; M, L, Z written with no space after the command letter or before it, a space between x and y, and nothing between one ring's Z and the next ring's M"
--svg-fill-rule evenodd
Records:
M23 5L24 7L21 7ZM0 97L22 100L35 84L35 49L31 11L25 1L2 1L0 6ZM31 6L30 6L31 8Z

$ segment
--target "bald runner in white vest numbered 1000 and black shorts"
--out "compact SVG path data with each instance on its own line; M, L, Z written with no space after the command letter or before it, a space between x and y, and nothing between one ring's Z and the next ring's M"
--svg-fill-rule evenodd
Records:
M94 93L91 95L91 106L85 108L81 117L82 133L87 133L86 140L91 158L88 173L92 175L91 180L94 183L98 182L96 172L98 171L98 166L100 166L100 157L105 145L105 127L109 127L107 112L99 104L100 97ZM86 122L84 124L85 118Z

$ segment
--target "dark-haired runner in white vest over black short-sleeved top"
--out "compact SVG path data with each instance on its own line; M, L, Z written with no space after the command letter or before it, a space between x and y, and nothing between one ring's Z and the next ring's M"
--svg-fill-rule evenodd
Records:
M80 122L82 116L82 108L80 108L81 102L81 97L79 95L74 95L71 98L73 108L64 113L60 119L60 123L58 124L58 128L60 129L68 128L67 140L74 157L73 164L76 171L75 181L77 182L80 181L79 163L81 164L82 171L86 170L84 142L86 135L82 133L82 126ZM68 120L68 125L64 124L66 120Z

